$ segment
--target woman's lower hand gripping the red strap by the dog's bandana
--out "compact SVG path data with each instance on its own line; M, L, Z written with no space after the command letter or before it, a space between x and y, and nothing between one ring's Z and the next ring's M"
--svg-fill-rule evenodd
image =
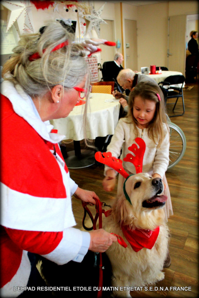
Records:
M89 250L92 252L105 252L109 246L117 240L115 235L112 235L103 229L94 230L90 232Z

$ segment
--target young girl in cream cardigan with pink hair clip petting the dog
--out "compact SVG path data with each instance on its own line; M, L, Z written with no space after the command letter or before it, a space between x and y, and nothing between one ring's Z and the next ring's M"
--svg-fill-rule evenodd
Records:
M115 128L107 152L118 158L121 153L123 159L130 153L128 147L135 143L135 138L141 137L146 143L143 159L143 173L162 178L165 194L168 199L164 207L165 219L173 215L169 187L165 172L169 164L169 128L166 121L164 97L160 87L151 82L138 83L129 94L129 111L126 118L121 118ZM127 173L135 174L135 166L130 162L123 162ZM117 172L105 165L103 187L112 191L116 183ZM118 177L118 195L123 192L125 178Z

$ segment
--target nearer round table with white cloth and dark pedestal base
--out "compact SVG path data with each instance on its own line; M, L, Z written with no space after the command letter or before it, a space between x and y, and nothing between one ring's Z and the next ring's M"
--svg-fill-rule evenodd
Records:
M80 142L84 139L83 113L85 105L78 105L65 118L51 120L54 129L65 139L72 139L73 151L68 152L65 159L68 168L89 167L95 163L94 151L80 149ZM112 94L91 93L87 108L86 138L95 139L114 134L120 111L119 100Z

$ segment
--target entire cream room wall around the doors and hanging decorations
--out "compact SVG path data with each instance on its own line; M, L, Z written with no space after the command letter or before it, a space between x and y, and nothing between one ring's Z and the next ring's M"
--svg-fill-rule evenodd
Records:
M122 3L121 5L120 2L113 4L109 1L85 1L85 4L93 4L96 10L105 4L101 17L114 21L114 36L115 39L119 39L120 42L124 40L124 19L137 21L138 70L140 70L142 66L150 66L151 64L166 66L168 16L198 13L198 1L163 1L158 4L143 6L133 6L127 3ZM6 18L7 10L3 9L1 12L3 13L1 18ZM5 13L6 16L4 15ZM53 9L37 10L32 4L32 13L35 31L38 31L38 29L44 25L45 21L50 18L60 18L61 16L63 18L77 20L77 13L72 9L70 9L68 13L63 9L57 13L53 12ZM95 30L92 30L92 36L97 37ZM103 38L103 36L101 36L101 38ZM103 50L105 50L105 47ZM125 58L125 48L123 44L120 48L120 52L123 53Z

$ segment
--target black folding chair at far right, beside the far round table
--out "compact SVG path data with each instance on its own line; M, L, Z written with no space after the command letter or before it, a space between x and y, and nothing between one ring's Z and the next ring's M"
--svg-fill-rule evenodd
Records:
M182 90L182 86L183 86L184 82L185 82L185 77L183 75L171 75L171 76L167 77L163 82L158 83L158 85L162 84L162 87L166 86L166 85L169 86L168 88L165 88L166 92L164 93L164 99L165 99L166 104L174 104L174 107L173 107L172 111L174 111L174 109L175 109L175 106L178 102L178 98L179 97L182 98L183 113L178 114L178 115L172 115L172 116L169 116L169 117L182 116L185 112L184 97L183 97L183 90ZM170 87L170 85L175 85L175 84L180 84L181 87L175 87L175 86ZM167 103L167 100L170 99L170 98L176 98L175 103Z

